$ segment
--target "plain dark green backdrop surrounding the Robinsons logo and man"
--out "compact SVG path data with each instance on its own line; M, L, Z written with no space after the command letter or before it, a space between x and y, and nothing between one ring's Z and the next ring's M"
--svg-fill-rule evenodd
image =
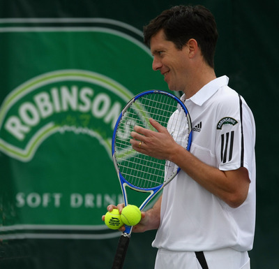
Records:
M246 99L255 115L257 224L255 244L250 252L251 268L279 268L276 108L279 97L278 1L1 0L0 17L106 17L126 22L142 30L142 26L162 10L180 3L203 4L215 15L220 36L216 50L216 74L229 76L229 85ZM4 42L1 41L2 46L6 45ZM53 45L49 40L45 42ZM71 44L71 41L68 43ZM8 46L8 50L10 59L14 59L17 45ZM90 57L86 61L90 62ZM136 67L133 64L131 66ZM6 66L1 64L0 68L1 83L16 87L18 84L6 72ZM21 73L22 68L26 66L19 68ZM1 89L1 100L5 96L6 92ZM9 173L12 171L2 162L1 174ZM1 189L3 191L3 187ZM124 268L153 268L156 255L156 249L150 246L153 236L153 231L133 235ZM9 240L1 245L0 266L110 268L117 240Z

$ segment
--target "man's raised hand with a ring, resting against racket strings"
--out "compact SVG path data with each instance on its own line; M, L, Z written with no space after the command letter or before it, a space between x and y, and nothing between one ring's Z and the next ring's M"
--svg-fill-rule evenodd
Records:
M156 159L169 160L172 150L177 144L165 127L154 119L149 119L149 122L158 132L135 126L134 131L130 134L133 138L130 139L130 144L137 152Z

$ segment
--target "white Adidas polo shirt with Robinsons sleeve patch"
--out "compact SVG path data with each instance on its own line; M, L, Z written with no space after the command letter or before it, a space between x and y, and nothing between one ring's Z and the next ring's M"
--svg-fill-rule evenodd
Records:
M244 166L246 201L230 208L182 170L163 190L161 222L153 247L171 251L252 249L255 233L255 122L250 108L223 76L184 101L193 124L190 152L220 170Z

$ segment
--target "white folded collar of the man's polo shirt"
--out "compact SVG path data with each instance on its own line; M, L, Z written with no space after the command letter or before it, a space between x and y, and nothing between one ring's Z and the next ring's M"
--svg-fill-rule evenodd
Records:
M202 106L205 101L207 101L213 94L215 94L220 87L227 86L229 83L229 78L227 75L223 75L220 78L216 78L215 80L211 80L211 82L207 83L202 87L202 89L199 89L199 91L194 94L190 99L190 101L193 101L193 103L197 104L198 106ZM183 94L181 96L181 101L186 101L186 96Z

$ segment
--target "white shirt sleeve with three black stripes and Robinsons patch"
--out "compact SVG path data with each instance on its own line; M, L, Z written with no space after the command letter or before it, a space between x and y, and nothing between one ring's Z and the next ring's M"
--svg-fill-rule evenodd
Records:
M223 101L216 113L216 157L220 170L250 170L255 147L252 112L241 96Z

